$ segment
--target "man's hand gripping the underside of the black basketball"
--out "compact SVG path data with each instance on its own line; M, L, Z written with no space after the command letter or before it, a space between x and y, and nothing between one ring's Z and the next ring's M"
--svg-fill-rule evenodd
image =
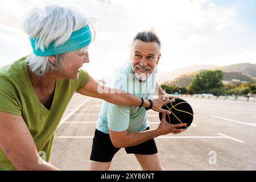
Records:
M172 125L166 121L166 114L163 113L162 120L157 128L159 135L166 135L169 133L179 134L186 129L179 129L179 127L185 126L187 123Z

